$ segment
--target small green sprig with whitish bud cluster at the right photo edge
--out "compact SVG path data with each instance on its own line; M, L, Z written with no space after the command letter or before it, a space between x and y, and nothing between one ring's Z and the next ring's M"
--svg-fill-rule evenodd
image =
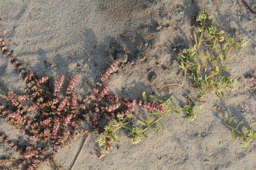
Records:
M227 122L226 127L230 128L231 131L231 136L232 138L236 138L236 140L242 140L240 143L241 146L246 147L248 146L252 140L256 140L256 130L252 128L252 125L248 125L248 128L245 128L244 132L242 130L239 130L238 128L240 125L242 125L243 122L239 122L238 125L233 127L230 125L233 119L236 117L229 117L227 119L224 119L224 122ZM236 137L237 135L237 137Z

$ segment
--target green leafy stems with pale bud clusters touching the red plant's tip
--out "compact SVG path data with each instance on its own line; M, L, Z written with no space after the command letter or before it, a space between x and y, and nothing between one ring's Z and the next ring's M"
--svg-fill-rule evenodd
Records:
M142 97L144 99L144 102L147 102L145 92L142 93ZM104 127L104 132L96 137L96 142L98 142L99 146L105 146L107 143L111 143L112 141L116 142L117 137L114 132L121 128L125 128L129 131L128 136L132 144L138 144L139 142L141 142L142 138L147 138L148 136L145 134L146 130L155 130L156 134L158 134L158 131L160 129L158 125L160 125L162 129L165 129L164 124L161 120L172 111L175 111L174 105L170 104L172 95L166 101L162 101L153 95L150 95L150 98L154 101L160 102L160 107L164 108L163 113L149 111L149 119L137 121L138 124L142 125L142 128L139 128L139 126L137 125L133 128L129 127L131 126L130 119L135 119L135 115L132 113L128 114L124 118L122 116L118 116L118 120L112 119L110 123Z

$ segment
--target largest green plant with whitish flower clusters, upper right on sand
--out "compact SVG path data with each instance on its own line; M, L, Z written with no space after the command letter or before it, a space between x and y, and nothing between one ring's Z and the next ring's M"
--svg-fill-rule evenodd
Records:
M229 70L225 64L236 56L232 51L240 50L246 42L241 38L228 38L224 35L223 30L214 26L214 17L206 10L199 12L196 21L199 26L198 33L193 33L195 44L182 50L179 67L184 71L184 78L190 74L194 84L200 89L200 98L205 97L208 92L224 97L224 92L233 91L236 85L236 79L225 75L225 71ZM206 49L210 48L210 57L198 55L202 43Z

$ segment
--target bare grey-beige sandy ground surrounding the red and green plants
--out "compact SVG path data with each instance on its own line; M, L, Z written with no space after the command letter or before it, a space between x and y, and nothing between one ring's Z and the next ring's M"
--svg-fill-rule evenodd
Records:
M39 75L66 76L76 73L76 92L86 95L113 59L122 61L112 77L111 91L120 97L141 96L152 91L184 105L181 89L158 90L170 77L196 97L178 69L178 54L192 45L195 17L207 9L220 29L248 41L246 48L229 63L238 87L221 102L208 96L194 122L169 115L166 130L132 145L124 132L104 158L98 159L95 136L82 150L74 169L255 169L256 144L247 148L231 138L223 119L236 116L244 125L256 127L256 15L236 0L0 0L0 37L26 67ZM256 6L255 2L249 3ZM161 26L161 28L159 27ZM159 29L160 28L160 29ZM166 74L162 67L170 74ZM253 78L254 77L254 78ZM8 90L22 92L25 84L5 57L0 57L0 82ZM88 83L89 82L89 83ZM213 109L218 105L217 109ZM13 139L26 136L0 120L0 130ZM60 149L54 160L61 169L70 168L82 136ZM10 154L0 144L0 156ZM44 164L40 169L52 169Z

